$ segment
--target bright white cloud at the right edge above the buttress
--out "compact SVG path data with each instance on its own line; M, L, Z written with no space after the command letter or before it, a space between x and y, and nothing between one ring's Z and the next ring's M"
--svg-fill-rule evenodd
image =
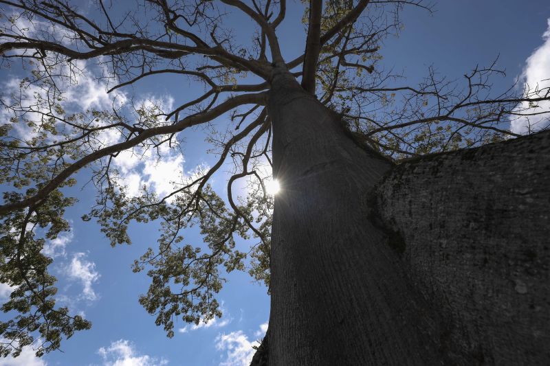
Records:
M544 43L527 58L525 68L520 76L520 80L526 89L540 90L550 87L550 19L547 22L548 28L542 34ZM539 108L526 112L540 113L542 111L550 111L550 101L538 102L537 105ZM529 104L523 102L516 107L516 111L521 111L528 107ZM531 115L528 117L512 118L510 128L514 133L528 133L529 130L536 131L547 127L549 122L549 115Z

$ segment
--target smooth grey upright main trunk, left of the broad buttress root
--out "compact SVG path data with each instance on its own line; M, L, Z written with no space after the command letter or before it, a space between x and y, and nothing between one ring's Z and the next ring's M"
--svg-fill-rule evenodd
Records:
M268 108L281 185L269 365L456 364L438 312L368 219L368 192L391 163L354 144L289 73L274 76Z

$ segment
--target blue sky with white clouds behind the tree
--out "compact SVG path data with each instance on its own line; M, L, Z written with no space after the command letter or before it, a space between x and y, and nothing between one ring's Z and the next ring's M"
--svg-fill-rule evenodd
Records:
M303 52L305 35L300 6L299 1L290 1L287 20L278 30L287 60ZM476 65L490 65L497 56L497 66L506 70L506 77L494 82L497 90L507 89L516 80L522 86L548 78L548 1L446 0L435 2L434 10L434 14L428 14L406 8L401 14L404 30L398 38L388 38L382 49L384 67L403 71L410 84L426 76L430 66L449 78L461 78ZM235 15L233 21L238 25L246 20ZM238 28L235 36L248 35ZM3 90L14 88L16 79L2 70ZM541 87L544 85L550 86L549 80L540 83ZM69 91L69 98L87 108L110 106L109 98L128 102L130 95L138 95L137 102L146 104L147 98L153 98L169 109L192 98L194 92L192 85L184 83L182 87L175 78L161 77L143 80L109 96L105 85L88 75ZM511 128L522 132L524 126L516 124ZM170 187L166 184L170 179L177 179L181 172L192 175L197 166L212 165L217 159L205 153L208 145L200 130L188 130L183 138L182 152L170 152L158 165L152 155L145 156L142 162L122 155L117 167L129 188L137 189L146 183L157 192L168 192ZM146 292L148 278L144 273L131 271L133 260L154 246L157 228L133 224L129 230L133 244L111 248L98 225L80 220L94 202L93 188L83 186L86 178L85 172L80 173L80 183L67 190L67 195L79 198L67 211L72 231L47 242L45 251L55 260L51 271L59 279L59 301L85 314L92 328L64 341L63 352L36 358L32 349L25 347L19 358L0 359L0 366L248 365L254 354L252 345L258 344L256 341L267 329L270 299L265 286L253 282L247 273L226 275L228 282L217 297L223 317L199 325L178 321L175 336L167 339L164 330L155 326L153 317L137 303L138 296ZM223 174L215 177L214 188L224 187L223 179ZM184 235L186 242L201 241L197 229ZM238 242L243 248L249 244ZM0 284L0 300L9 294L10 288Z

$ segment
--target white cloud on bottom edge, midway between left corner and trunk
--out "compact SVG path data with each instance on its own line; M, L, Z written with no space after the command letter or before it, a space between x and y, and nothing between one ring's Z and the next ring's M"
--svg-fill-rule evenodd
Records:
M98 354L103 358L104 366L162 366L168 361L147 354L140 355L133 344L125 339L112 342L109 347L101 347Z

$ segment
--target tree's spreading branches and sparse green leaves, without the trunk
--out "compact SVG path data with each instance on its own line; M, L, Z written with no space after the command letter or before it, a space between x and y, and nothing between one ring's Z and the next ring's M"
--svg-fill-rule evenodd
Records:
M76 1L0 0L0 55L5 69L27 76L16 92L2 95L0 124L0 282L14 286L2 306L12 319L0 323L7 340L0 353L21 352L39 339L37 354L56 350L64 337L91 323L56 306L56 279L45 241L69 229L64 212L76 198L80 170L89 172L96 205L83 220L97 220L111 245L129 244L131 222L160 222L158 247L135 261L151 277L140 303L173 336L174 319L198 323L221 316L216 294L223 272L248 271L270 286L272 127L267 91L274 70L286 68L305 91L331 109L365 146L400 161L434 152L471 148L548 128L550 89L511 85L492 90L503 71L496 62L475 67L463 80L434 69L418 85L380 66L384 39L401 32L399 12L423 1L303 1L307 34L303 54L285 58L277 36L285 0L127 1L98 0L91 12ZM241 34L232 16L246 16ZM241 19L241 18L239 18ZM91 70L113 95L110 109L77 108L69 89ZM120 93L159 74L173 74L203 91L179 106L155 100L136 104ZM78 89L77 89L78 90ZM212 166L170 182L158 194L130 191L122 157L176 154L183 131L208 133ZM224 194L210 182L232 164ZM234 188L244 180L246 190ZM227 200L221 196L227 194ZM182 230L197 226L204 245L184 244ZM236 237L256 238L248 252Z

